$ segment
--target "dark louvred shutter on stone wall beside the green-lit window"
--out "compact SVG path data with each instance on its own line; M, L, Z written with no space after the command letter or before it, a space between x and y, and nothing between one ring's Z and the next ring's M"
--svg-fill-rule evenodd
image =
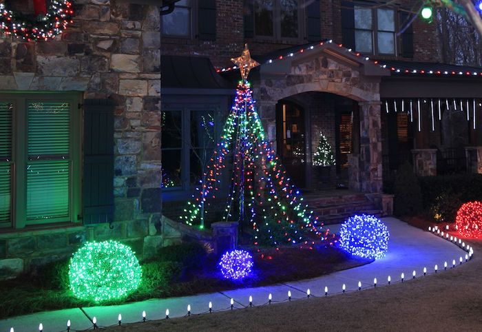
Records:
M114 104L84 103L83 223L114 219Z

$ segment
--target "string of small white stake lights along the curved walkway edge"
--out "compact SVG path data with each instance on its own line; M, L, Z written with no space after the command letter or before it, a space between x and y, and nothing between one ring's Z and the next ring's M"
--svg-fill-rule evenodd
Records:
M441 232L438 226L428 227L428 231L430 233L436 235L436 236L439 236L439 237L451 242L454 245L457 245L460 249L462 249L463 251L466 252L465 256L460 256L458 259L453 259L451 266L448 266L448 262L445 261L443 263L444 264L443 266L445 267L445 270L454 269L456 267L459 267L464 262L468 262L469 260L471 260L472 257L474 256L474 249L470 245L465 245L465 242L462 242L461 239L457 239L457 237L450 236L450 238L449 238L448 234L444 234L443 232ZM459 262L459 264L457 264L457 261ZM423 271L423 276L417 277L417 270L413 270L411 280L414 280L415 278L423 278L425 276L437 274L437 272L439 272L438 264L435 264L432 269L427 269L427 267L423 267L423 269L421 271ZM319 289L315 289L315 291L319 291L319 295L314 295L313 289L307 289L306 292L300 291L300 289L295 289L297 291L300 291L300 293L305 293L306 295L300 296L300 297L293 297L293 296L291 296L291 292L289 292L289 293L287 293L288 296L286 298L283 298L282 300L273 300L273 295L271 293L269 293L269 295L266 297L268 299L268 301L263 302L263 304L260 304L258 306L255 306L253 304L253 297L251 295L249 296L250 304L249 305L241 304L242 307L235 306L234 299L230 298L229 299L230 305L228 307L222 307L221 309L215 310L215 309L213 309L213 302L209 302L207 310L200 311L198 313L194 313L192 308L191 308L191 305L187 304L187 313L183 316L180 316L180 317L187 318L187 317L190 317L190 316L193 316L193 315L205 315L205 314L214 313L214 312L228 311L230 309L231 310L249 310L249 308L251 308L251 307L267 307L267 306L269 306L273 303L293 302L293 301L298 301L298 300L309 300L310 298L325 298L328 295L333 296L333 295L341 295L341 294L344 294L344 293L355 293L357 291L362 291L362 290L365 290L365 289L374 289L375 287L379 287L379 286L390 287L391 284L403 283L404 281L409 281L409 280L406 280L405 273L401 273L400 278L395 278L395 280L392 280L392 278L390 276L388 276L388 278L386 278L386 280L387 280L387 282L380 283L380 282L378 282L377 278L375 277L374 280L373 280L373 283L366 282L367 286L365 286L365 287L362 286L361 281L358 281L357 283L353 282L353 284L351 285L351 286L353 286L353 289L348 289L348 290L346 289L346 285L343 284L342 286L339 287L339 290L335 291L335 292L329 292L328 287L326 287L326 286L324 287L324 289L322 289L320 287ZM343 287L343 286L345 286L345 287ZM166 310L166 313L169 313L169 309ZM168 320L168 319L170 319L170 318L169 318L169 315L167 314L165 318L161 318L161 319L158 319L158 320ZM90 329L92 329L92 328L98 329L99 327L106 328L106 327L118 326L120 324L123 324L123 325L138 324L138 323L142 323L142 322L151 322L151 321L154 321L154 320L148 320L146 311L143 311L141 320L138 320L136 322L129 322L129 323L126 324L125 322L121 322L121 313L119 313L118 314L118 322L116 324L112 324L110 326L102 326L102 325L98 324L96 318L94 317L93 320L92 320L92 327L90 327ZM43 328L42 323L39 324L39 326L42 326L42 328ZM14 331L14 328L11 327L10 331ZM65 330L60 331L60 332L64 332L64 331ZM68 320L67 321L67 331L81 332L81 331L85 331L85 330L72 329L71 321Z

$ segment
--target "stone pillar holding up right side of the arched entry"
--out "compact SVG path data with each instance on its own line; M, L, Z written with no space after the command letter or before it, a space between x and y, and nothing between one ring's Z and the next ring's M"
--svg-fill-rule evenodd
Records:
M381 192L381 118L379 101L364 101L360 107L359 182L362 192Z

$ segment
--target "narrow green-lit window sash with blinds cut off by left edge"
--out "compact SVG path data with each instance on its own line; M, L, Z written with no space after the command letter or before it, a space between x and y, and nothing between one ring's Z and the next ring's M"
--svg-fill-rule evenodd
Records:
M0 102L0 227L10 226L12 208L12 103Z

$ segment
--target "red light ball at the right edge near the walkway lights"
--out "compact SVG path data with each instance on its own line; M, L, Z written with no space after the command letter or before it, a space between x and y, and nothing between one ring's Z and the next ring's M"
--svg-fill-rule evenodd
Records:
M482 238L482 203L477 200L464 203L457 211L455 225L461 236Z

